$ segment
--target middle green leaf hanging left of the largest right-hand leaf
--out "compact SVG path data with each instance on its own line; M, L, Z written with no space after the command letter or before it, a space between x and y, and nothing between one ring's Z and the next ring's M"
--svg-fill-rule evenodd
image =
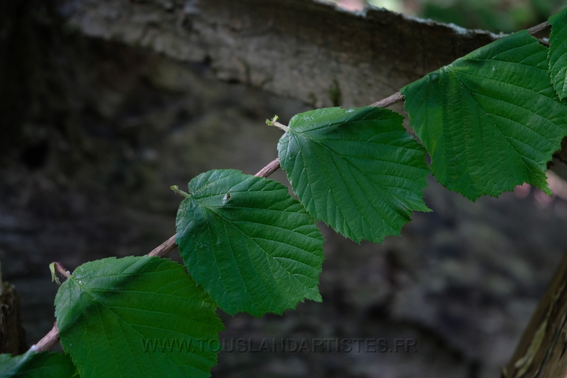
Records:
M423 202L425 150L387 109L327 108L291 118L281 167L305 209L342 235L380 243L400 235Z

